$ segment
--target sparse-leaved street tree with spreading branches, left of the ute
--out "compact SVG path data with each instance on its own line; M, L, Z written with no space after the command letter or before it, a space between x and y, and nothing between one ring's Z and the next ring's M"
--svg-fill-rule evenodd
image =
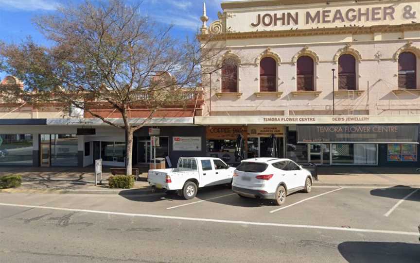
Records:
M161 28L139 11L140 4L123 0L86 0L35 20L51 47L31 38L18 45L0 43L1 70L25 84L0 90L1 99L62 102L123 129L127 175L132 174L133 133L158 109L185 105L191 99L185 91L194 91L206 70L217 70L201 65L212 64L223 49L210 38L175 39L171 27ZM92 102L119 113L123 123L92 110ZM132 124L130 109L138 107L148 109L148 116Z

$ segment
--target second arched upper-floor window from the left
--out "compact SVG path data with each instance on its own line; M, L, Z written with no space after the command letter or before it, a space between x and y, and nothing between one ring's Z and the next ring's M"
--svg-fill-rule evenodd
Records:
M277 63L273 58L265 57L260 62L260 91L275 92L277 76Z

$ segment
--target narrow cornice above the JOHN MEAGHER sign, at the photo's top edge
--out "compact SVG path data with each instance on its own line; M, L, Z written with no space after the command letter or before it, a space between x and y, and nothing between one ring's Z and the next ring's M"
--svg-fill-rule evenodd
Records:
M316 4L316 3L335 3L335 2L348 2L354 3L349 0L259 0L259 1L235 1L235 2L223 2L222 9L234 9L234 8L248 8L248 7L268 7L268 6L280 6L280 5L304 5L304 4ZM358 2L379 2L379 0L358 0Z

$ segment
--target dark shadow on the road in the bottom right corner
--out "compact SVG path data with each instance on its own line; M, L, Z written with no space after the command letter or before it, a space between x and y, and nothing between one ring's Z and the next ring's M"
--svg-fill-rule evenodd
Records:
M338 251L349 263L419 263L420 244L398 242L343 242Z

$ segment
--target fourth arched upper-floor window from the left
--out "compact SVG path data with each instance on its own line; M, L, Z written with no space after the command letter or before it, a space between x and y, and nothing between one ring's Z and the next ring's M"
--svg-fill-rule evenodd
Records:
M338 89L356 90L356 59L350 54L338 59Z

